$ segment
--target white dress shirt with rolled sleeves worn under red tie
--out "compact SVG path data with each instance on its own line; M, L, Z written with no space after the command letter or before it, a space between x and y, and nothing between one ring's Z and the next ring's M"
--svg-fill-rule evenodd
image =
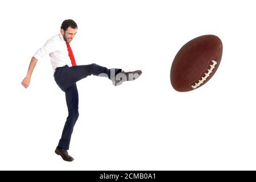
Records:
M47 40L46 44L36 51L34 57L37 60L40 60L46 55L50 56L54 71L56 68L64 67L65 65L72 67L71 59L68 55L67 44L62 34L55 35Z

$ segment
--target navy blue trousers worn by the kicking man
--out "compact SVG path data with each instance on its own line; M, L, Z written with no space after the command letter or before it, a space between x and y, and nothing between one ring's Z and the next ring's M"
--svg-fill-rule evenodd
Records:
M112 79L121 69L108 69L97 64L79 65L75 67L60 67L55 70L56 84L65 92L68 106L68 117L58 144L58 147L69 149L73 127L79 117L79 94L76 82L89 75L105 76Z

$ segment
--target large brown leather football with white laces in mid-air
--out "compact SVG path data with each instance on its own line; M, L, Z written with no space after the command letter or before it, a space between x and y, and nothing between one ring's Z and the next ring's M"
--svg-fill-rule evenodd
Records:
M172 87L188 92L204 85L217 71L221 56L222 43L215 35L203 35L189 41L172 62Z

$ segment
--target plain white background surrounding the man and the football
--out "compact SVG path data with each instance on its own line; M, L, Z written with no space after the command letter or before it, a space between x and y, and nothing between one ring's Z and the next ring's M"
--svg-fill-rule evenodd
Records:
M1 3L0 169L255 170L254 1L4 1ZM141 69L133 82L77 83L80 117L64 162L54 153L67 117L49 57L20 84L32 55L78 24L77 64ZM176 92L170 68L183 44L217 35L212 79Z

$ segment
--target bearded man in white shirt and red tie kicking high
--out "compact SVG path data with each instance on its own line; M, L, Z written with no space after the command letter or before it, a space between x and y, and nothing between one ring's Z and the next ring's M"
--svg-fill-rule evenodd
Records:
M65 92L68 106L68 117L65 122L63 133L56 147L55 153L63 160L71 162L74 159L68 155L69 143L73 127L79 117L79 95L76 82L89 75L105 76L112 80L115 86L124 81L135 80L141 76L142 71L124 72L122 69L108 69L97 64L76 65L75 57L69 43L75 38L77 24L71 19L64 20L61 24L60 34L53 36L32 57L28 67L27 76L22 85L27 88L36 62L44 56L49 55L53 67L56 84Z

